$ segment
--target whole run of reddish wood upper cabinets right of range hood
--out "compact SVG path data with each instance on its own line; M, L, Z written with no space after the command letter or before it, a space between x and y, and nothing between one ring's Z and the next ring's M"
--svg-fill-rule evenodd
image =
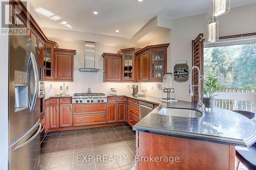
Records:
M104 82L162 82L169 43L103 53Z

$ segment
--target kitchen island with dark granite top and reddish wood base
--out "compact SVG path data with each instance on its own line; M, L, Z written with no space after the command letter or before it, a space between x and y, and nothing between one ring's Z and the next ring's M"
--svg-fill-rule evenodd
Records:
M133 127L137 155L146 158L137 160L138 169L233 170L234 146L249 147L256 141L255 124L236 112L214 108L201 111L201 117L158 114L164 107L195 108L189 102L163 103ZM169 159L159 161L160 157Z

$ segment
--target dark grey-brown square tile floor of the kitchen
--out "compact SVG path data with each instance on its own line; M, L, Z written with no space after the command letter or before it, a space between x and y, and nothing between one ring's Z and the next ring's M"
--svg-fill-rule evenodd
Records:
M129 125L48 133L38 170L129 169L136 154Z

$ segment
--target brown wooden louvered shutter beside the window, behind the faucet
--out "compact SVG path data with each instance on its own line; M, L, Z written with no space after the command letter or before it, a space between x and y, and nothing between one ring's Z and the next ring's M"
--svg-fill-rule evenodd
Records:
M204 69L204 42L203 42L203 33L199 34L198 37L192 41L192 61L193 61L193 66L196 65L199 67L201 74L203 75ZM194 69L193 72L193 84L197 85L198 84L198 71ZM201 82L202 88L203 89L203 81ZM202 95L203 99L203 95ZM194 87L194 96L193 96L193 103L197 103L198 100L198 88Z

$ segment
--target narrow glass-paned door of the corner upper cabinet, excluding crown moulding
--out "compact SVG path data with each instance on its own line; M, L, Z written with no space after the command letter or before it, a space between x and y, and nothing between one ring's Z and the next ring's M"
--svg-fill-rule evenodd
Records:
M123 70L122 80L133 81L134 80L134 52L123 53Z

